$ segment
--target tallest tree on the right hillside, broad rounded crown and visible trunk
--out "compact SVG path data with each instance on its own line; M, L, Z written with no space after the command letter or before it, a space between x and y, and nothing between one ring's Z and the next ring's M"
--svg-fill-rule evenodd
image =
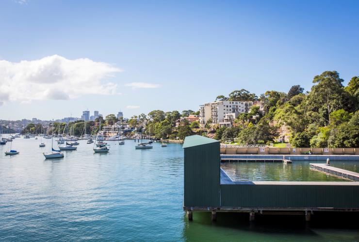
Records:
M330 124L330 113L343 107L343 79L336 71L326 71L314 76L308 95L307 107L309 110L319 112Z

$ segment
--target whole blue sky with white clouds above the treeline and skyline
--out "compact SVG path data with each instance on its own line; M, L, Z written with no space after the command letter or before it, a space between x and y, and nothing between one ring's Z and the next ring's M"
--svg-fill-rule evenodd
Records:
M0 119L192 109L359 75L359 1L1 0Z

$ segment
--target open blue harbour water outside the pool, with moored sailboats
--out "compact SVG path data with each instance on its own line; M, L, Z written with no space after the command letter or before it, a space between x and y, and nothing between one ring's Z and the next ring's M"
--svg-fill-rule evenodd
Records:
M93 145L81 140L64 159L45 160L42 151L51 140L45 142L39 148L40 139L18 138L13 149L20 154L12 157L0 146L0 240L359 240L357 223L333 224L331 218L327 224L315 216L310 227L304 217L258 216L250 224L247 214L230 213L219 213L212 224L210 214L200 212L189 223L178 144L135 150L133 140L122 146L112 141L108 154L93 154Z

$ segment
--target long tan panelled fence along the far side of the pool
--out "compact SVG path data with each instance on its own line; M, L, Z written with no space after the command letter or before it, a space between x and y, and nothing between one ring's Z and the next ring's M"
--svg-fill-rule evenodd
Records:
M227 147L221 146L221 154L353 154L359 148L275 148L275 147Z

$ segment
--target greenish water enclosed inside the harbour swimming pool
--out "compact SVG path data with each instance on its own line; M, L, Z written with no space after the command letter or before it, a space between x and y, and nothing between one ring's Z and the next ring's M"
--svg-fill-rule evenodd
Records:
M233 181L350 181L310 169L309 161L282 162L226 162L221 167ZM326 163L315 162L315 163ZM355 171L358 162L331 161L330 165Z

